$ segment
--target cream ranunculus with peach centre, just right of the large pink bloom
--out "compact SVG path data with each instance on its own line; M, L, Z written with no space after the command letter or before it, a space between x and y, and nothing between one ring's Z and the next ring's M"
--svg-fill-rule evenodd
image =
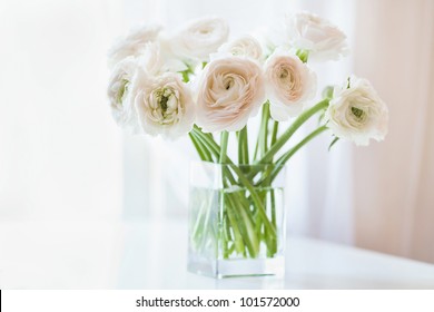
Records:
M267 96L275 120L297 116L316 92L316 75L298 57L276 50L265 64Z

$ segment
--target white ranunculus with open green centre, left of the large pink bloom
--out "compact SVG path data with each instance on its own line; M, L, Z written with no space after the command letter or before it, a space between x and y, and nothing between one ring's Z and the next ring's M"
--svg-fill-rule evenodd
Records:
M145 133L174 139L191 129L195 104L190 89L178 75L165 72L154 77L138 71L131 97Z

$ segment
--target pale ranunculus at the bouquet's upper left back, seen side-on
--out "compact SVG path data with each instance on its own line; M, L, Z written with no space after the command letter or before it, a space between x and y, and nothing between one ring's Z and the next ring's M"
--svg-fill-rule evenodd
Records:
M134 29L126 37L118 39L108 52L109 66L115 66L126 57L140 56L147 43L157 40L160 30L160 26L145 26Z

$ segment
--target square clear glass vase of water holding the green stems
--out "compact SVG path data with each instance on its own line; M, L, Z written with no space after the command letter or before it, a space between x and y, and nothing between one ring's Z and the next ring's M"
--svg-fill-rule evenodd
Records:
M283 276L284 176L277 165L191 163L188 271Z

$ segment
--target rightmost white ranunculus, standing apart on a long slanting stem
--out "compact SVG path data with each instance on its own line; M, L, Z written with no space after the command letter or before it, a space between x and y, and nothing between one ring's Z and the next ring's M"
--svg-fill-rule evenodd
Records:
M325 117L334 135L356 145L383 140L387 134L387 106L368 80L355 76L335 88Z

